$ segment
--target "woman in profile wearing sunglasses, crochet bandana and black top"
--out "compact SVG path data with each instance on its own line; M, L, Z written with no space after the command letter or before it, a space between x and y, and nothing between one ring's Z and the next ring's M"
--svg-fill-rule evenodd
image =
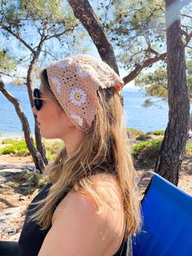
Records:
M49 184L29 205L20 256L128 255L140 223L124 129L120 77L77 55L51 64L34 90L41 135L64 148L46 167Z

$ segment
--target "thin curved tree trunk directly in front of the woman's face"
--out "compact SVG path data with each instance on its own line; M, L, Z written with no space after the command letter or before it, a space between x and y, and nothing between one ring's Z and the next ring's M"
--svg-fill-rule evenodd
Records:
M29 97L30 104L31 104L32 108L34 106L34 104L33 104L33 89L32 89L33 88L33 72L34 72L34 68L35 68L35 65L37 63L40 51L41 51L41 49L39 49L38 51L36 51L33 54L33 60L31 61L30 65L28 67L27 87L28 87L28 97ZM47 160L47 157L46 157L46 149L45 149L44 144L42 143L40 131L37 127L37 118L35 116L34 116L34 119L35 119L34 133L35 133L37 151L40 152L44 163L47 165L48 160Z

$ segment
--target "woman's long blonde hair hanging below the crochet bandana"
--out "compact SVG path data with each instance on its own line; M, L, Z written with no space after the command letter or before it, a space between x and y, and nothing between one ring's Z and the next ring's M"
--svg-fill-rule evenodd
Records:
M50 94L45 79L41 83ZM135 170L129 150L129 139L122 126L123 107L118 93L110 89L98 90L98 111L89 132L79 148L68 158L63 148L55 161L46 166L46 174L52 186L46 199L38 203L38 210L32 215L41 228L50 227L55 204L63 192L73 190L94 198L98 210L107 205L107 192L99 189L93 175L112 174L120 188L124 206L125 234L134 234L140 225L140 205L135 184Z

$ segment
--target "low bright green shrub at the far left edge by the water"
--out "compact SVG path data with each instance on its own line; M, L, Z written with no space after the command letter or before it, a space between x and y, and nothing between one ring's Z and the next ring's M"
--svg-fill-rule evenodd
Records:
M0 148L0 155L12 154L18 157L29 156L27 145L24 141L12 141L11 145Z

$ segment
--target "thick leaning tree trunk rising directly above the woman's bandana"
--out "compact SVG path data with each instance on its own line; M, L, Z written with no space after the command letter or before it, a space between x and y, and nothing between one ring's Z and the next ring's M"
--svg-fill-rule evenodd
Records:
M103 29L103 25L98 20L93 8L87 0L68 0L72 7L76 19L80 20L89 36L92 38L94 45L98 49L98 53L102 60L107 62L116 73L119 74L119 68L116 63L116 56L113 51L111 42L107 38L107 33Z

